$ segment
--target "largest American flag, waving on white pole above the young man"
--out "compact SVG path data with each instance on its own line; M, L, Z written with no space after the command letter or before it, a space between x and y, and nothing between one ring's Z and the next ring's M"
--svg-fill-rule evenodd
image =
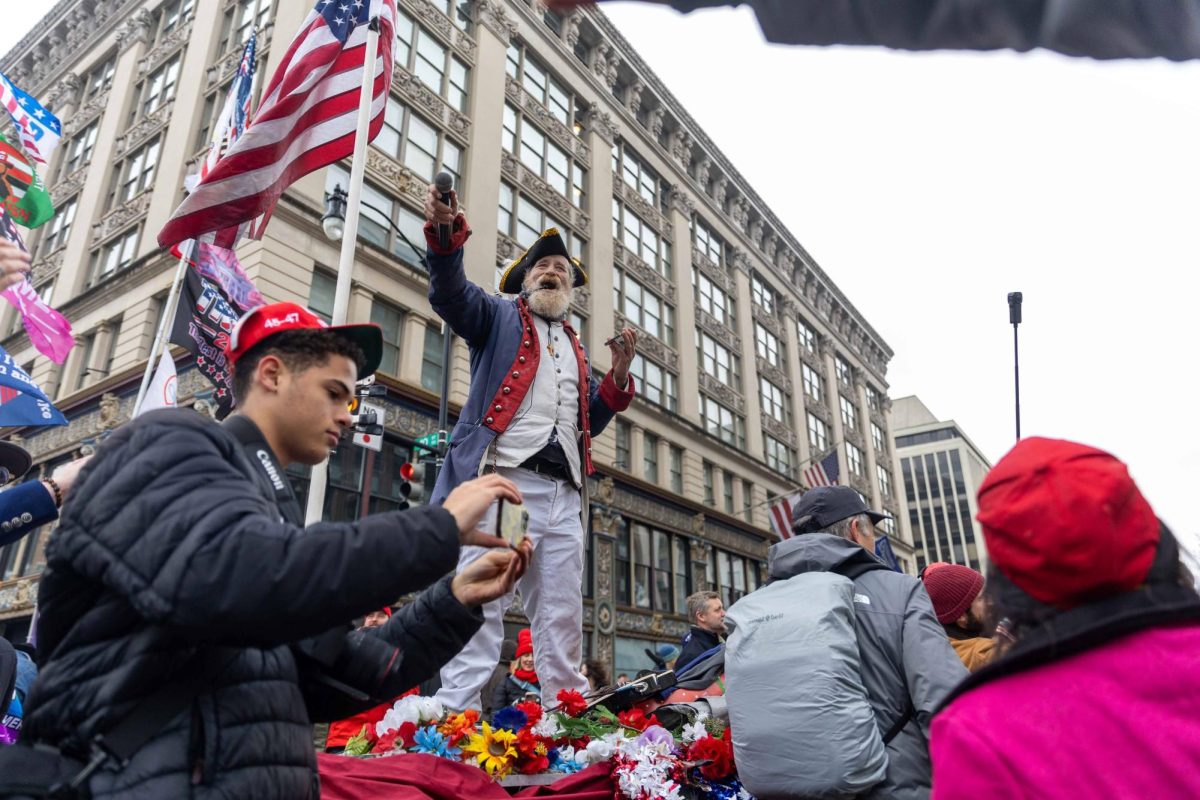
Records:
M374 17L379 59L368 139L379 133L391 84L396 0L319 0L271 76L254 120L175 209L158 245L169 248L247 224L247 234L260 237L293 181L353 154L367 23Z

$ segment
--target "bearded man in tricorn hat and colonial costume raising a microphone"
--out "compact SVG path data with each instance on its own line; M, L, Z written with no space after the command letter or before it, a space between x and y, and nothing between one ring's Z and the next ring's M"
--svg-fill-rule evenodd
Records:
M572 290L586 285L588 276L558 230L542 233L504 272L499 290L516 297L491 295L463 271L462 247L470 228L457 197L451 193L450 205L438 197L431 186L425 204L430 302L470 348L472 381L432 500L440 501L460 482L485 471L497 471L520 488L535 549L517 587L538 642L542 697L553 705L560 690L588 688L577 668L583 657L581 489L592 473L593 437L634 398L629 367L637 335L626 327L613 337L612 369L596 380L568 323ZM451 229L446 248L439 245L439 224ZM484 519L494 525L496 515ZM458 569L481 553L463 548ZM480 708L480 688L499 657L510 601L511 595L487 603L484 627L443 667L438 698L444 705Z

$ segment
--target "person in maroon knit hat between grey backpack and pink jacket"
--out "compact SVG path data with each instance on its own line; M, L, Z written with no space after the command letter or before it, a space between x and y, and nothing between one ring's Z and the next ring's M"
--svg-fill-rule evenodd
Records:
M984 636L983 575L961 564L935 561L922 571L920 579L962 666L974 672L991 661L995 643Z

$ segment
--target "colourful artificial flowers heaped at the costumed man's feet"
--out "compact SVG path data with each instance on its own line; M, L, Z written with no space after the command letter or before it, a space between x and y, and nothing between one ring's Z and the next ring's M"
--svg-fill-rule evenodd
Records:
M448 715L430 697L402 697L374 730L364 726L346 745L347 756L403 753L462 762L497 780L611 762L626 800L752 800L737 780L730 729L720 721L700 716L668 730L636 706L619 714L589 709L575 691L559 692L550 709L518 703L491 721L472 710Z

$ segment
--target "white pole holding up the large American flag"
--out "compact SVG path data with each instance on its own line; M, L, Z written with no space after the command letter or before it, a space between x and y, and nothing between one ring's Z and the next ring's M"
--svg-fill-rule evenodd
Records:
M350 281L354 272L354 246L359 239L359 211L362 204L362 175L367 166L367 139L371 136L371 100L374 95L374 65L379 48L379 18L367 24L367 49L362 58L362 88L359 94L359 120L350 162L350 191L346 200L346 227L342 230L342 255L337 263L337 288L334 290L334 325L343 325L350 306ZM391 76L385 76L391 80ZM329 458L312 468L305 525L320 522L329 482Z

